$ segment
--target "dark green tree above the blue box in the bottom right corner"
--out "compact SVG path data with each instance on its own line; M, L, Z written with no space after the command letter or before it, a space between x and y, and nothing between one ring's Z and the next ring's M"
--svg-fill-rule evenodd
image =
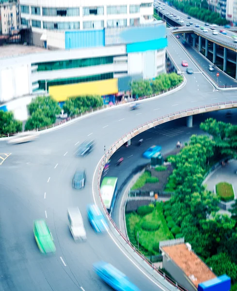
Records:
M211 258L206 259L206 264L212 267L213 272L221 276L226 274L236 282L237 280L237 264L231 261L231 258L225 253L219 253Z

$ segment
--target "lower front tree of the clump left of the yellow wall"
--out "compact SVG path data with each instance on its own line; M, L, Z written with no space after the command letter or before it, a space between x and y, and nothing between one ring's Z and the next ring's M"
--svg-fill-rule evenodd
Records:
M25 130L42 128L51 125L52 118L45 114L46 110L37 109L32 113L32 115L27 119L25 124Z

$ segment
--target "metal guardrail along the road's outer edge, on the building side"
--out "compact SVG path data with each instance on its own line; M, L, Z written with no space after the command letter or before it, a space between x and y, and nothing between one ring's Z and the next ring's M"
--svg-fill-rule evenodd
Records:
M143 97L139 97L139 98L132 99L132 101L127 102L126 104L130 104L130 103L135 102L135 101L144 100L144 99L148 99L148 98L152 98L152 97L158 97L159 95L162 95L162 94L164 94L164 93L166 93L166 92L172 91L173 89L179 87L183 82L184 82L184 80L181 81L179 84L175 85L174 87L171 87L171 88L169 88L169 89L167 89L167 90L161 91L161 92L159 92L159 93L157 93L157 94L152 94L152 95L147 95L147 96L143 96ZM120 104L118 104L118 105L120 105ZM115 105L115 106L116 106L116 105ZM93 108L93 109L90 110L90 111L86 111L86 112L84 112L84 113L81 113L81 114L77 114L77 115L74 115L74 116L68 117L68 118L66 118L66 119L64 119L64 120L62 120L62 121L60 121L60 122L57 122L57 123L54 123L54 124L51 124L51 125L48 125L48 126L45 126L45 127L42 127L42 128L37 128L37 129L28 130L27 132L31 132L31 131L35 131L35 130L37 130L37 131L42 131L42 130L46 130L46 129L51 129L51 128L57 127L57 126L59 126L59 125L61 125L61 124L63 124L63 123L66 123L66 122L68 122L68 121L71 121L71 120L73 120L73 119L76 119L76 118L78 118L78 117L80 117L80 116L86 116L88 113L93 113L93 112L95 112L95 111L102 111L102 110L104 110L105 108L106 108L105 106L102 106L102 107L96 107L96 108ZM22 132L22 131L20 131L20 132ZM20 132L0 134L0 138L1 138L1 137L11 137L11 136L13 136L14 134L17 134L17 133L20 133Z

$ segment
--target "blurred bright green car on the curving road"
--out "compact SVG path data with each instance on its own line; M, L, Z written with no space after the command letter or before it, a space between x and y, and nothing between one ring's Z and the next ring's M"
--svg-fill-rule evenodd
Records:
M34 237L41 253L55 253L56 247L45 220L34 222Z

